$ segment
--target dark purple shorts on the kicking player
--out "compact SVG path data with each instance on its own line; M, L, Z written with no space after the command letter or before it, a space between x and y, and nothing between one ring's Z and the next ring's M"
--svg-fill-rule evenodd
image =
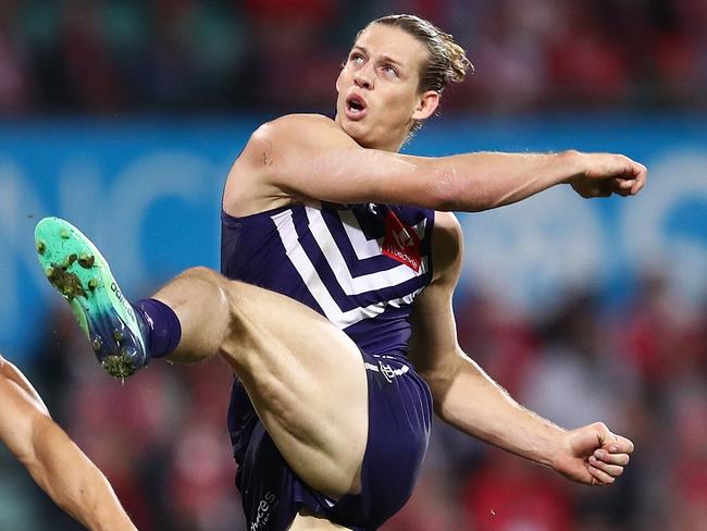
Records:
M248 531L285 531L300 507L354 530L377 529L412 494L430 439L427 384L399 357L362 354L369 385L369 436L359 494L334 502L300 480L234 383L228 428L239 464Z

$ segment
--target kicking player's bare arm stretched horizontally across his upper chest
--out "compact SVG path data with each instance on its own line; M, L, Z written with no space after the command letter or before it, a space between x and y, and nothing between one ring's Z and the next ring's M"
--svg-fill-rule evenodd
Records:
M645 168L622 156L566 151L412 157L361 148L324 116L289 115L253 133L232 169L224 206L244 215L314 198L479 211L560 183L595 197L635 194L644 181Z

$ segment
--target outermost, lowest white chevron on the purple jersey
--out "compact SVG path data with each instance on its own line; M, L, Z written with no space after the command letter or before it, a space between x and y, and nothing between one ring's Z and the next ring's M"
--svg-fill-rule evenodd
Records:
M406 295L405 297L395 298L390 300L383 300L374 305L370 305L365 307L357 307L347 311L342 311L338 304L336 302L336 300L334 300L334 297L332 297L332 294L328 292L328 288L324 284L324 281L322 281L322 279L319 276L319 273L317 272L314 264L307 256L307 252L305 251L301 244L299 243L299 238L297 236L297 230L295 229L295 223L293 221L292 211L285 210L283 212L272 215L271 219L273 220L275 226L277 227L277 233L280 234L280 238L283 243L283 246L285 247L285 252L289 258L289 260L292 261L295 269L297 270L297 272L299 273L299 276L302 279L302 281L309 288L309 292L312 294L312 297L314 297L314 300L317 300L317 304L322 308L322 311L326 316L326 319L328 319L332 323L334 323L339 329L345 329L347 326L350 326L351 324L362 321L363 319L370 319L380 316L385 311L386 307L392 306L394 308L399 308L405 305L410 305L412 304L412 300L418 295L418 293L422 291L422 289L417 289L413 293ZM322 219L321 222L323 223L324 220ZM331 239L331 242L326 242L326 243L336 247L333 238ZM326 250L328 252L332 249L327 248L322 250ZM343 260L344 257L340 256L340 252L339 252L339 257ZM406 267L406 269L410 269L410 268ZM336 270L334 271L337 272ZM414 273L412 270L410 271ZM348 272L348 268L346 268L346 272L348 275L347 279L348 283L352 284L352 279L350 273ZM414 274L412 276L414 276ZM340 276L337 277L340 282ZM389 286L390 284L385 284L385 287L389 287ZM364 291L370 291L370 288ZM347 293L347 294L351 295L351 293Z

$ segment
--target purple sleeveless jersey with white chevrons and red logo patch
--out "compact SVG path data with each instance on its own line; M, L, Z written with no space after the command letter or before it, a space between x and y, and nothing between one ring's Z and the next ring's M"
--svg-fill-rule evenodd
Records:
M405 356L414 297L432 280L434 211L293 203L222 213L221 271L326 317L363 351Z

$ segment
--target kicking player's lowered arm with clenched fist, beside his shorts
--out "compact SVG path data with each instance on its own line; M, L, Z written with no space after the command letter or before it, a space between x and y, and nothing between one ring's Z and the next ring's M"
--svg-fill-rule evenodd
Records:
M415 299L410 357L447 423L590 484L607 484L628 464L630 441L601 423L563 430L514 402L459 347L451 294L461 267L461 232L450 214L435 221L435 281Z

